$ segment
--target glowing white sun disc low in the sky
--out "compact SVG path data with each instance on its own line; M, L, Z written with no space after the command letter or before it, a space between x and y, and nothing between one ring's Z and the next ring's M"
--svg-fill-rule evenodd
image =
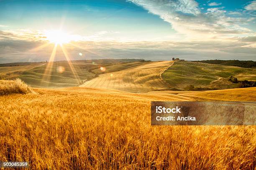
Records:
M70 35L61 30L45 31L46 39L55 44L64 44L71 41Z

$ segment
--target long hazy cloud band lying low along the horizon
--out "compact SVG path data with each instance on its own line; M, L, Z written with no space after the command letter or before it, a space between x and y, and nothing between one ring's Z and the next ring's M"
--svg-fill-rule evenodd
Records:
M0 63L49 60L54 44L44 48L45 40L20 31L0 31ZM39 31L40 32L40 31ZM160 42L77 41L65 44L72 60L100 58L144 58L146 60L170 60L180 57L186 60L239 59L255 60L256 35L248 37L215 37L207 40L183 40ZM254 44L254 45L253 45ZM34 49L34 50L33 50ZM81 52L82 56L79 56ZM65 60L59 48L56 60Z

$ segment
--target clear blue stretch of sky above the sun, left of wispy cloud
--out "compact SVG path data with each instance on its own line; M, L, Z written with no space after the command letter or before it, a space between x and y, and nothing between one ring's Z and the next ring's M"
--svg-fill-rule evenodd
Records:
M64 20L63 30L79 35L112 31L123 32L131 39L134 39L134 35L147 39L174 32L170 24L159 19L159 16L121 0L0 3L0 25L8 25L3 29L56 30ZM142 37L142 33L147 38Z

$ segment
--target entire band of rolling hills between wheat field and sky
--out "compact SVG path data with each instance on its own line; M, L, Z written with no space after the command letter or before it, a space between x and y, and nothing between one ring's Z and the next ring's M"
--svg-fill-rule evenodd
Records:
M70 64L71 63L71 64ZM11 63L13 64L13 63ZM256 69L187 61L151 62L132 59L76 60L2 64L0 79L20 78L31 87L97 87L128 92L237 88L228 80L256 81ZM166 70L167 69L167 70Z

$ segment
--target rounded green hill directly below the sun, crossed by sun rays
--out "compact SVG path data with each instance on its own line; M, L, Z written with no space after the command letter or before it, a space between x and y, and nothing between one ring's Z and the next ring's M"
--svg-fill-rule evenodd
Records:
M72 87L78 86L82 80L95 77L86 69L91 66L90 63L72 63L72 70L68 62L54 62L52 67L47 67L47 64L34 67L18 77L32 87Z

